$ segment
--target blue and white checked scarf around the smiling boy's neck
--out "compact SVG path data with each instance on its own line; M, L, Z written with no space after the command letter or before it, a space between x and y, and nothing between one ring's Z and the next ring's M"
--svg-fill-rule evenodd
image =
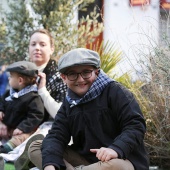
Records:
M105 87L112 81L114 80L109 78L102 70L100 70L99 76L82 98L77 96L71 89L68 89L66 99L69 102L70 107L89 102L99 96Z

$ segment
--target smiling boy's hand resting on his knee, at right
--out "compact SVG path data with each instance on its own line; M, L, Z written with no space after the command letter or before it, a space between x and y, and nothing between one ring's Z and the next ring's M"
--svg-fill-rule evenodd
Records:
M100 149L90 149L90 151L96 153L96 157L102 162L118 158L117 152L110 148L102 147Z

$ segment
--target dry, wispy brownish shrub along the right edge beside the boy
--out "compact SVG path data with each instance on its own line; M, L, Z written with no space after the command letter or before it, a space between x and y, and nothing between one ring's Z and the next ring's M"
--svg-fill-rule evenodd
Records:
M145 81L135 95L146 119L150 164L170 168L170 48L156 47L146 57ZM144 65L142 61L139 64ZM137 82L136 82L137 83Z

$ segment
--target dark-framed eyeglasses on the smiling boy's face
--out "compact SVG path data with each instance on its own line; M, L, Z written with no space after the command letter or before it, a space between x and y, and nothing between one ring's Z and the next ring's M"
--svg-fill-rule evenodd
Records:
M81 73L67 73L66 76L70 81L77 80L79 74L83 79L89 79L92 76L93 71L94 70L86 70L86 71L82 71Z

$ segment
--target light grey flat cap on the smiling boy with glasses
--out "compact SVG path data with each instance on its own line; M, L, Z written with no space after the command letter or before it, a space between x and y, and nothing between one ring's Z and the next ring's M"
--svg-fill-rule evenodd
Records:
M58 61L58 70L65 73L69 67L77 65L92 65L100 67L100 57L95 51L86 48L77 48L65 53Z

